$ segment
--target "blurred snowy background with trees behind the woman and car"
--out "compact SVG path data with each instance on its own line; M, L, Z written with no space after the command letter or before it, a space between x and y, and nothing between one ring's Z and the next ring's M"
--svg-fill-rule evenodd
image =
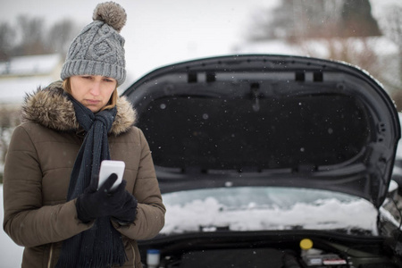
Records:
M2 1L0 182L26 93L60 79L72 39L99 0ZM297 54L359 66L402 110L400 0L117 0L128 20L127 80L163 65L222 54Z

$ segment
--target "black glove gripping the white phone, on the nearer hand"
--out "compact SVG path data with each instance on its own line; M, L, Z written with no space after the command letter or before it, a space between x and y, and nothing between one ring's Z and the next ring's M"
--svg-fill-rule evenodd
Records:
M77 197L76 208L81 222L90 222L121 210L126 202L127 181L123 180L118 188L111 191L110 188L116 180L117 175L113 173L98 190L96 190L96 184L91 183L84 193Z

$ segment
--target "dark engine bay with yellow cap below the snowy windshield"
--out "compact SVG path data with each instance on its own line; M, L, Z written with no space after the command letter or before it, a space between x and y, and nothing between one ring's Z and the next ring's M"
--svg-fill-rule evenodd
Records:
M339 234L217 232L139 243L144 267L369 268L401 267L387 242Z

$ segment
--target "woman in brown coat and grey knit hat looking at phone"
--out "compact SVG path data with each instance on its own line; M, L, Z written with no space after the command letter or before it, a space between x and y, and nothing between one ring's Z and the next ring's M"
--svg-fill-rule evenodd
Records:
M165 208L125 79L126 14L96 6L73 40L62 80L27 96L4 165L4 230L25 247L22 267L141 267L137 239L163 228ZM126 168L96 190L100 163Z

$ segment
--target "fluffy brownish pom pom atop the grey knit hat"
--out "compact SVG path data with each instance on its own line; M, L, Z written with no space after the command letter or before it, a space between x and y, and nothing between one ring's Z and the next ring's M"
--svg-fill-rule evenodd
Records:
M120 4L105 2L97 4L92 16L94 21L105 21L113 29L120 32L127 21L127 14Z

